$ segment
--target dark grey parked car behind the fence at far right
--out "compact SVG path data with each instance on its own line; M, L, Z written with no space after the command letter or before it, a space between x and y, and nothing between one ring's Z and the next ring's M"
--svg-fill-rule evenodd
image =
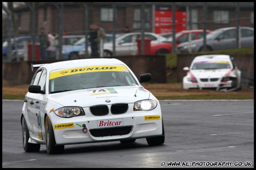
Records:
M254 28L250 27L240 27L241 38L240 44L241 48L248 48L254 46ZM182 43L177 46L177 51L180 53L189 52L201 52L203 51L204 40L194 40ZM206 36L206 49L205 51L215 51L215 50L226 50L237 48L236 42L236 27L220 28L212 31Z

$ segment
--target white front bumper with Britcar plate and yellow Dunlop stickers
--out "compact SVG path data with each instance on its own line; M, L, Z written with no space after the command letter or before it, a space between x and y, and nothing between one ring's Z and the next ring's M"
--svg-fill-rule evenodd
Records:
M160 106L152 111L133 111L129 105L124 114L94 116L83 108L85 116L60 118L52 115L57 145L107 142L162 135Z

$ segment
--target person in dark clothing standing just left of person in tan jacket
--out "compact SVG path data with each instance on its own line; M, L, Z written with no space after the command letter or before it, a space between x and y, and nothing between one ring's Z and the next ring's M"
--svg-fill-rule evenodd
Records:
M99 53L98 53L98 31L97 31L97 26L95 24L91 24L90 25L90 37L89 37L89 41L90 41L90 46L91 46L91 57L92 58L96 58L99 57Z

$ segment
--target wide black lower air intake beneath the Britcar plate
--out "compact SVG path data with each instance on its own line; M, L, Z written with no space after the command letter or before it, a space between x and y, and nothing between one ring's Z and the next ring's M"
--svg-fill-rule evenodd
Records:
M101 128L101 129L90 129L90 133L94 137L104 137L104 136L117 136L126 135L131 132L131 126L125 127L115 127L115 128Z

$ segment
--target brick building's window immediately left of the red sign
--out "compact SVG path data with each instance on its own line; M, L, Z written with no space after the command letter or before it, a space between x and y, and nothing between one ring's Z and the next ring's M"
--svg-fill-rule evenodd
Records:
M144 12L145 16L145 28L149 28L149 18L150 18L150 12L148 8L145 8ZM141 9L134 9L134 17L133 17L134 23L133 28L141 28Z

